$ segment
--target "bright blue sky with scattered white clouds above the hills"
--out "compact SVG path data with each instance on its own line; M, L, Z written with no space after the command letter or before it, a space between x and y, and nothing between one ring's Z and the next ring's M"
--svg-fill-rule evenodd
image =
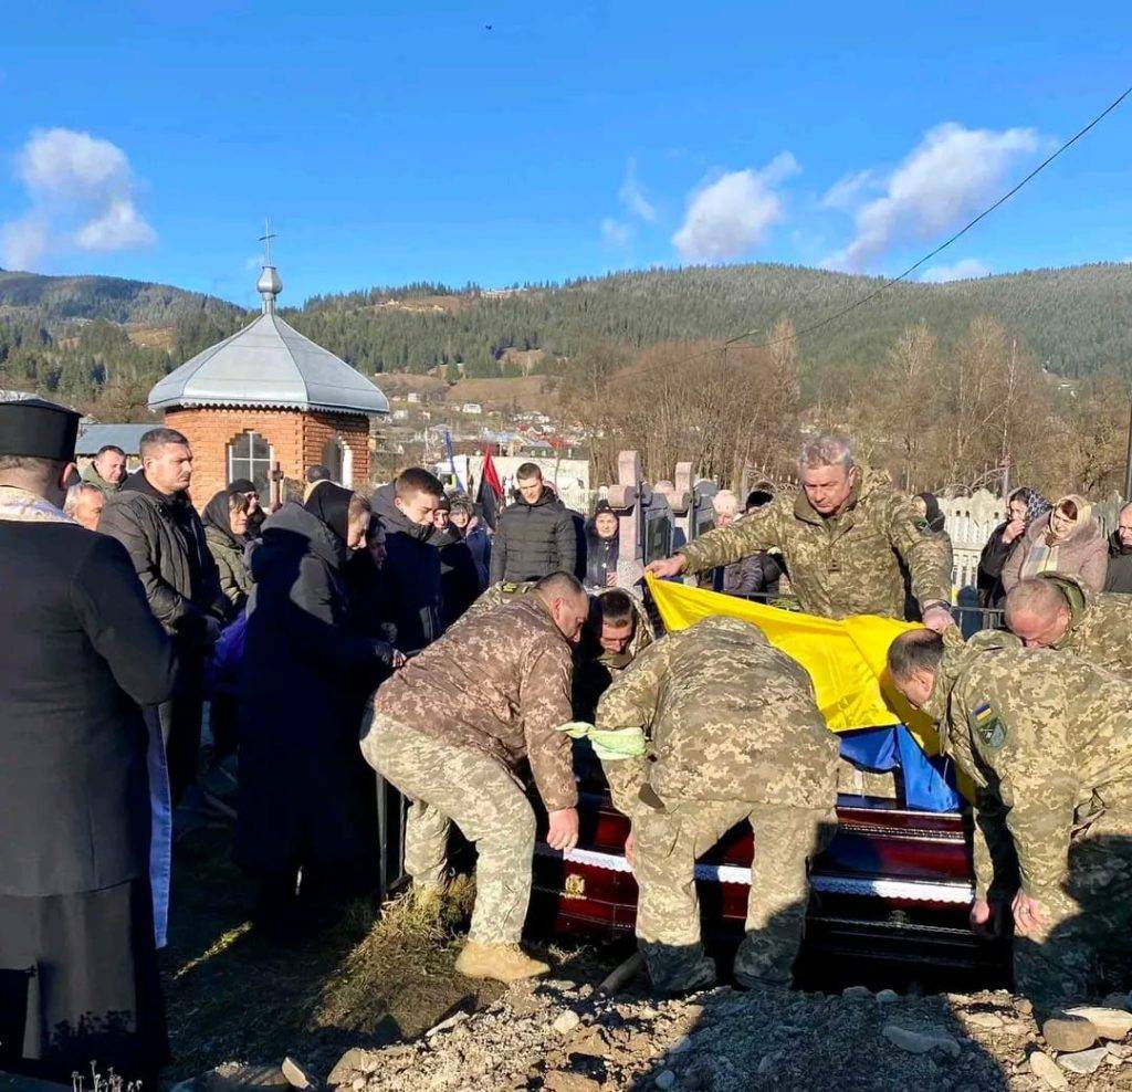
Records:
M490 26L490 29L488 29ZM0 266L283 302L895 273L1132 83L1132 6L8 5ZM1132 257L1132 100L929 277Z

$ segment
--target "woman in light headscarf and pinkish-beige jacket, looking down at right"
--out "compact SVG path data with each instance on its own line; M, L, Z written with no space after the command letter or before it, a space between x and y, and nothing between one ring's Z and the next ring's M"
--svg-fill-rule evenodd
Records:
M1092 505L1083 497L1063 497L1048 517L1035 519L1002 569L1009 592L1019 581L1039 573L1064 573L1099 592L1108 568L1108 547Z

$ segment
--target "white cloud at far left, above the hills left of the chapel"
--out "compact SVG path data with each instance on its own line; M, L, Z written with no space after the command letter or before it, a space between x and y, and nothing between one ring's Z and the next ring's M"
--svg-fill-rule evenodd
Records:
M109 140L38 129L16 155L16 177L29 207L0 226L9 268L32 268L50 252L127 250L156 239L138 210L129 160Z

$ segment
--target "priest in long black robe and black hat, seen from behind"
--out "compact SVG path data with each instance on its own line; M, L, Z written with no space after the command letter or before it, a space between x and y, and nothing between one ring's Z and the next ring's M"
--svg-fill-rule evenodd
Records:
M0 402L0 1070L156 1089L140 706L177 665L125 548L61 510L77 425Z

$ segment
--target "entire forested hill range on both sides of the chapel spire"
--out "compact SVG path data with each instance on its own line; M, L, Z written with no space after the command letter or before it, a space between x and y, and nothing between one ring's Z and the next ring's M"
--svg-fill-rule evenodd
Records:
M881 283L796 266L696 267L498 292L370 289L316 296L283 313L366 375L440 366L449 376L463 370L488 378L568 368L568 358L599 339L637 350L767 332L782 318L801 330ZM947 349L974 318L990 316L1053 372L1129 375L1130 315L1130 265L899 284L804 335L798 363L806 386L830 367L883 361L911 324L926 323ZM146 394L162 375L250 317L233 303L169 285L0 270L0 387L36 389L105 419L144 418Z

